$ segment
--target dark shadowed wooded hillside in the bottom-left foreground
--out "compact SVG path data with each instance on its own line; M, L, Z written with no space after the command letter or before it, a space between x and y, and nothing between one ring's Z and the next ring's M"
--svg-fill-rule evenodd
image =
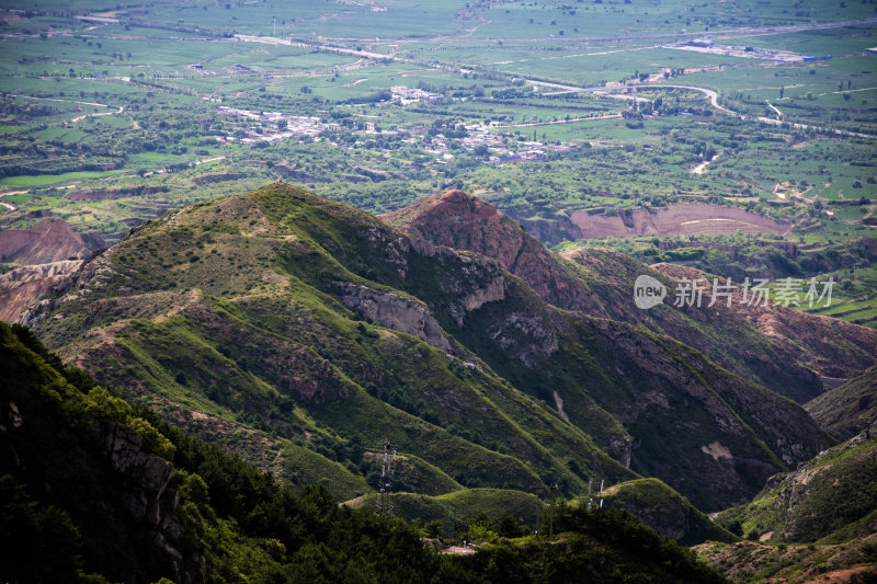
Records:
M483 560L440 556L399 518L340 506L321 488L289 491L160 422L27 329L0 323L0 366L4 582L486 583L500 557L522 583L542 582L546 559L601 582L724 582L627 514L578 514L562 539L503 540Z

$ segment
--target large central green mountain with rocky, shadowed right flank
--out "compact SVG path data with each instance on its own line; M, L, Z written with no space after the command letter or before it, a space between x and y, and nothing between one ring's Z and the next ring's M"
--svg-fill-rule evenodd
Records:
M800 408L697 351L282 183L133 230L27 322L159 410L329 456L348 499L351 444L387 436L464 486L645 473L706 509L824 445Z

